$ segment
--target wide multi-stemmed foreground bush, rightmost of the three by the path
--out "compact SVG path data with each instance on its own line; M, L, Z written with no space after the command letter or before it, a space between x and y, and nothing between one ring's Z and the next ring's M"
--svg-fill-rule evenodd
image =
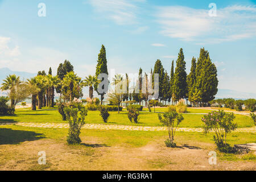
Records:
M214 131L213 140L221 152L233 152L229 144L226 143L226 135L237 129L237 124L232 122L234 118L234 113L225 113L223 110L212 111L201 118L204 122L205 133Z

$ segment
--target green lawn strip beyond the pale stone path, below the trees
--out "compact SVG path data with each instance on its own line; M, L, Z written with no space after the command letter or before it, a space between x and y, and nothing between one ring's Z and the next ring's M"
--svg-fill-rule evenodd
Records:
M164 108L158 108L164 109ZM193 109L201 111L201 109ZM122 111L117 113L117 111L111 111L110 117L107 125L136 125L136 126L161 126L157 113L148 113L141 111L139 115L139 123L131 123L127 117L127 112ZM181 122L179 127L201 127L203 122L201 122L201 114L183 114L184 121ZM88 115L85 119L86 123L101 123L100 111L88 111ZM1 122L32 122L32 123L65 123L61 120L61 115L55 109L43 109L32 111L29 109L17 109L14 116L0 116ZM251 127L254 126L253 120L245 115L236 114L236 119L234 122L238 124L238 127Z

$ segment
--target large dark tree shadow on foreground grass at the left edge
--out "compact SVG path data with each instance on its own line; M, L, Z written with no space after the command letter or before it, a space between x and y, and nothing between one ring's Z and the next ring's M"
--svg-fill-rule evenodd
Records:
M12 130L0 128L0 145L1 144L19 144L25 141L39 140L45 137L40 137L41 133L34 131Z

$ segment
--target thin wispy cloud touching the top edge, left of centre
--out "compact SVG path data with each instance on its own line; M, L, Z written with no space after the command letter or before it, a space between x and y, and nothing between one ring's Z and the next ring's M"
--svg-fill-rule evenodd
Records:
M113 20L117 24L137 23L138 6L136 0L88 0L97 13Z

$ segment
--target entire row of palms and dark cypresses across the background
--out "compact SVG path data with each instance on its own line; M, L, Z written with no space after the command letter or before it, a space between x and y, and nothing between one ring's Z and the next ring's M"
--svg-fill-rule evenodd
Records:
M159 74L159 100L160 101L179 101L181 98L189 100L192 104L199 105L201 103L208 103L214 99L217 93L217 69L212 63L209 57L209 52L205 51L204 48L200 51L200 56L196 61L195 57L192 59L191 72L187 76L185 71L186 63L184 60L183 49L180 49L178 58L176 60L176 68L174 69L174 61L171 64L171 73L168 75L167 71L163 68L162 62L156 60L154 65L154 71L152 73L152 86L154 87L154 73ZM48 75L45 71L39 71L38 76L30 78L27 82L20 81L19 77L15 75L8 76L4 80L2 90L10 90L11 106L13 107L18 100L15 99L17 90L20 85L29 87L27 94L32 95L32 110L36 109L36 105L41 109L43 106L54 106L55 90L60 93L60 101L72 101L73 98L81 98L82 87L89 86L89 97L93 99L93 90L101 97L101 104L104 100L105 92L99 93L98 86L102 80L98 80L98 76L101 73L108 75L108 67L106 60L106 49L102 45L100 53L98 54L98 61L96 67L95 76L88 76L85 80L78 77L73 71L73 65L65 60L64 63L60 64L57 68L57 75L52 76L52 70L49 69ZM142 68L139 68L139 76L143 74ZM146 80L146 83L142 80ZM139 93L129 93L129 77L126 74L126 78L121 75L116 75L113 79L114 84L120 81L127 81L127 93L118 94L113 96L110 94L109 97L118 100L117 105L122 101L136 101L141 105L141 102L145 101L146 106L148 102L148 96L150 95L148 90L146 93L142 93L142 84L147 84L150 78L146 73L143 77L138 77ZM18 87L17 87L18 85ZM104 86L102 86L104 89ZM26 96L28 97L28 96ZM16 101L16 102L15 102ZM20 102L20 101L18 101Z

